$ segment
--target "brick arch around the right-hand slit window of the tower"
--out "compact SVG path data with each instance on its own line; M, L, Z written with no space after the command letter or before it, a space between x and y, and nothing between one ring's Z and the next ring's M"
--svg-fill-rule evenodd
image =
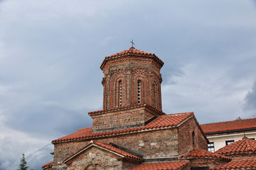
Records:
M132 98L131 103L133 105L137 105L140 103L149 103L149 74L146 69L135 69L132 72L132 79L131 79L131 91L132 91ZM140 93L138 92L138 81L140 81ZM140 95L140 102L138 103L138 95Z

